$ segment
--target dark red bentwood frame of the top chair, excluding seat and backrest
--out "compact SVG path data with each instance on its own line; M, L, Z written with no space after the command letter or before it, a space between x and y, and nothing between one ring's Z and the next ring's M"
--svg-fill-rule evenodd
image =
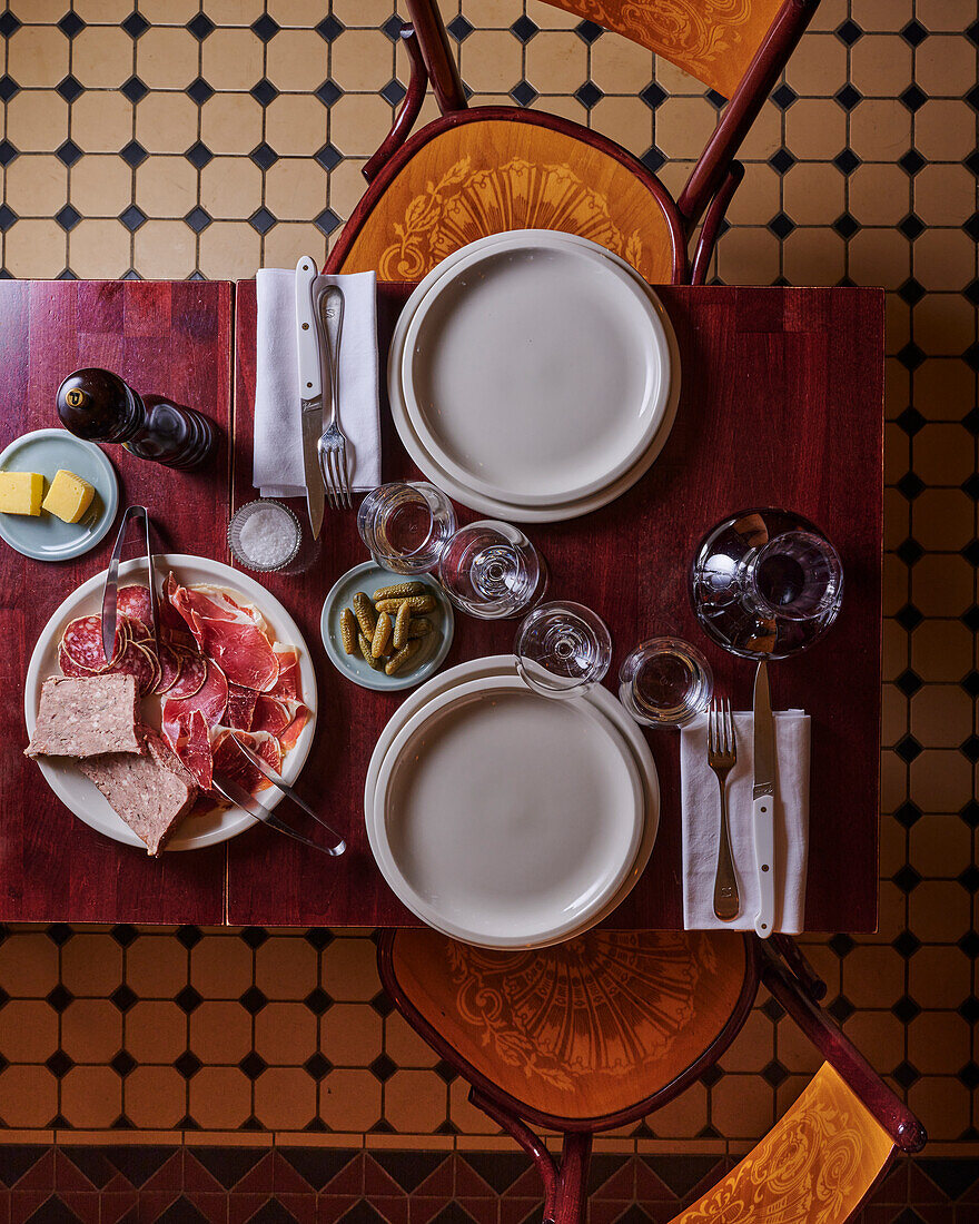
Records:
M702 284L724 224L724 213L744 176L744 168L734 160L734 155L820 0L784 0L677 201L633 154L580 124L510 106L469 108L466 89L452 56L436 0L406 2L411 21L401 27L401 42L411 61L408 93L388 136L363 166L370 186L330 252L328 271L340 271L366 218L399 170L423 144L459 124L497 119L549 129L618 160L647 187L662 208L671 240L672 283ZM430 84L442 114L412 137L410 132ZM701 218L704 225L693 257L688 259L688 248Z

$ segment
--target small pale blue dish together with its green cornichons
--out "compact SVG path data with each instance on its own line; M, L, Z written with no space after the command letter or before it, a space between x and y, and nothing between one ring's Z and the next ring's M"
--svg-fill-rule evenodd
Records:
M323 603L319 632L330 662L362 688L414 688L445 660L455 628L434 578L405 578L373 561L349 569Z

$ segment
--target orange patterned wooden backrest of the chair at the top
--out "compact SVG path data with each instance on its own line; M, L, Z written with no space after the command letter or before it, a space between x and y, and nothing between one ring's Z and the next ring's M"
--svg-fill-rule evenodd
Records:
M783 0L545 0L647 47L731 98Z

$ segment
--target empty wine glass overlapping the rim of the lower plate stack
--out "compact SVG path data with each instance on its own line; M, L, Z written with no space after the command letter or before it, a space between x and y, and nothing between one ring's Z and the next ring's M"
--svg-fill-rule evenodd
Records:
M513 652L520 678L535 693L581 696L608 671L612 636L583 603L540 603L520 622Z

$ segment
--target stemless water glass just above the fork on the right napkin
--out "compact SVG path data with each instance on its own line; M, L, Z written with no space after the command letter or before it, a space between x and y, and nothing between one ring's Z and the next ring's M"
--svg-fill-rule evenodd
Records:
M712 695L710 663L680 638L640 641L619 668L619 700L646 727L682 727Z

